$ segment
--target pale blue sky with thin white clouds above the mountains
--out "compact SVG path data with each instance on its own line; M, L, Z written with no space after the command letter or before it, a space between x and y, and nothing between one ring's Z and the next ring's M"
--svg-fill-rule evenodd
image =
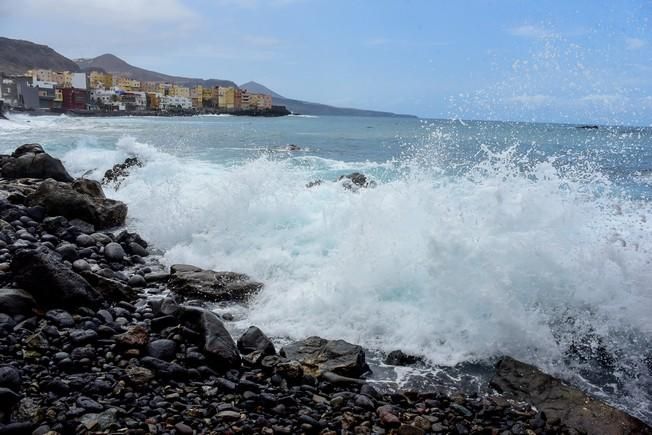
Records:
M652 0L0 0L0 35L337 106L652 125Z

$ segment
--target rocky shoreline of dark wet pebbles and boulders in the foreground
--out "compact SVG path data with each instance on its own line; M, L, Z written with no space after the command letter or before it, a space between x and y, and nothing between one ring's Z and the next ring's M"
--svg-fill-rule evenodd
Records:
M262 283L166 270L121 228L125 204L39 145L0 156L0 174L0 434L652 432L509 357L488 395L381 394L355 344L277 350L255 326L234 340L203 303L246 303Z

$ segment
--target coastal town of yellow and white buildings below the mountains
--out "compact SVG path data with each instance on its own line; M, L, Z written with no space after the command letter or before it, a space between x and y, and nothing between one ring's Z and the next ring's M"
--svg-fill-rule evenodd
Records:
M0 73L0 80L0 104L5 110L80 115L289 113L282 106L273 106L271 95L238 87L188 87L104 71L30 69L22 75Z

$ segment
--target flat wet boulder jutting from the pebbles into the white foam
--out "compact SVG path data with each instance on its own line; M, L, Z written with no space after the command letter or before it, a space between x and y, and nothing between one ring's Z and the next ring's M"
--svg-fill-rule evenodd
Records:
M211 302L245 302L263 287L242 273L190 270L179 266L172 266L168 286L181 296Z

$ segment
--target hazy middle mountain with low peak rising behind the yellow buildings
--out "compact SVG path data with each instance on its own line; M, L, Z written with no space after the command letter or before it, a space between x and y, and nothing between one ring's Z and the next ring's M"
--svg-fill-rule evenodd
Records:
M111 74L120 74L125 77L129 77L134 80L140 80L142 82L173 82L178 85L183 86L233 86L237 85L230 80L218 80L218 79L196 79L189 77L179 77L179 76L170 76L167 74L162 74L156 71L150 71L143 68L138 68L133 66L120 59L119 57L113 54L103 54L92 59L76 59L75 60L79 67L84 71L95 71L100 70L108 72Z

